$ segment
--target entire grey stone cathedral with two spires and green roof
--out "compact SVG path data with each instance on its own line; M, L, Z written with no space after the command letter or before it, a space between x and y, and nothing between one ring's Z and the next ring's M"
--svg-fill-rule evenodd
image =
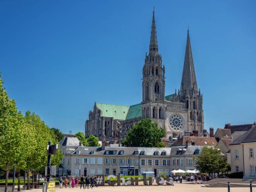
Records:
M141 119L152 119L166 132L169 140L181 135L203 134L203 96L197 87L195 67L187 31L187 45L181 88L165 95L165 67L158 51L153 11L149 53L142 69L142 101L132 106L95 103L86 120L86 136L115 143Z

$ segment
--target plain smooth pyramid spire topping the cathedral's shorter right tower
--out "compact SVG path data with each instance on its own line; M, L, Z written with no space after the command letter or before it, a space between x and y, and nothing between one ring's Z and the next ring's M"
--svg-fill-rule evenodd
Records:
M183 66L183 76L181 80L181 90L197 90L197 78L195 77L195 67L193 63L189 30L187 30L187 46Z

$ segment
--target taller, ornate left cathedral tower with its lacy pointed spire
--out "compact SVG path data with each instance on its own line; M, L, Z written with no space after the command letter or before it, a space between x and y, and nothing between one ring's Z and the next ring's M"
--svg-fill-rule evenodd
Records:
M156 38L156 21L153 11L152 28L150 37L150 51L146 53L143 66L142 80L142 118L150 118L160 124L164 119L164 96L165 96L165 69L162 66L162 57L158 53L158 41Z

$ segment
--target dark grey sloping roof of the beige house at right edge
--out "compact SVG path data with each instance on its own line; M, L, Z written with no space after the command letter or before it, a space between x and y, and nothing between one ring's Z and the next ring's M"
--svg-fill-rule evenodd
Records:
M251 143L256 142L256 125L253 124L249 131L245 132L243 135L234 140L230 145L239 145L241 143Z

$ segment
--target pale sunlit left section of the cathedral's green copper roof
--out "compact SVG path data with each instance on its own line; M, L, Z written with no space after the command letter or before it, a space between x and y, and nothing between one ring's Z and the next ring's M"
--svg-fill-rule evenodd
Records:
M129 106L117 104L96 103L97 108L102 110L103 117L113 117L114 119L125 120Z

